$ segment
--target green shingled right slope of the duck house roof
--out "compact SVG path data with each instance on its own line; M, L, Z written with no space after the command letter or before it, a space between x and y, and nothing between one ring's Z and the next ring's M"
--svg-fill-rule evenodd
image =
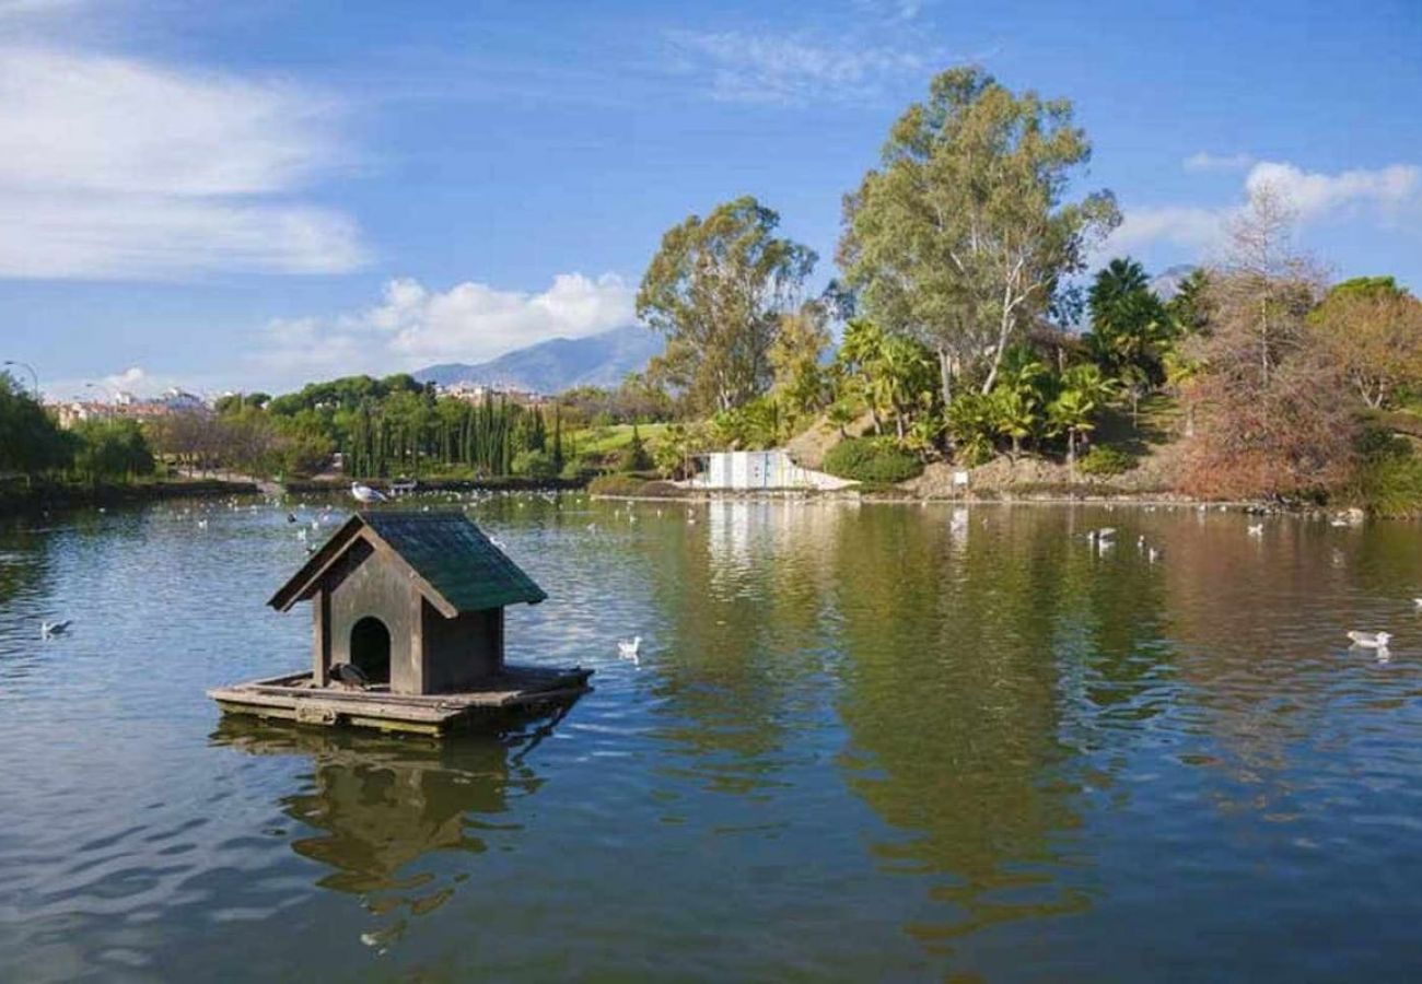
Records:
M462 512L374 510L360 518L459 611L547 597Z

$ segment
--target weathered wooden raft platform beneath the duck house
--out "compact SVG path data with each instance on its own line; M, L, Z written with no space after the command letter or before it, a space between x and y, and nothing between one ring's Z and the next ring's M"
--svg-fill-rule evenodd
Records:
M385 687L354 690L333 684L317 687L310 673L293 673L209 690L208 697L228 714L296 721L299 724L351 725L381 731L442 735L481 722L538 717L572 704L592 690L592 670L505 667L479 690L459 694L391 694Z

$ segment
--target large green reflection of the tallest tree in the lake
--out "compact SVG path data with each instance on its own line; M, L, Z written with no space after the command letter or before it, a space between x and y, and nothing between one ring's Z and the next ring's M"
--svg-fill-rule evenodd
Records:
M843 765L902 833L875 846L882 866L931 877L931 897L951 907L910 931L937 948L1085 910L1074 802L1109 775L1084 737L1118 707L1136 717L1153 702L1136 650L1159 624L1159 590L1142 590L1133 557L1071 539L1065 512L980 509L957 532L941 513L865 519L835 549Z

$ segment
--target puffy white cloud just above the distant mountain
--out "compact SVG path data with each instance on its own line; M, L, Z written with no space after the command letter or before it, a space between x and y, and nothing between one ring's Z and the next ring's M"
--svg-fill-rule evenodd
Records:
M560 273L540 293L465 282L429 290L401 277L380 304L333 319L267 326L260 367L286 377L391 373L445 361L482 361L549 338L576 338L630 324L636 290L614 273Z

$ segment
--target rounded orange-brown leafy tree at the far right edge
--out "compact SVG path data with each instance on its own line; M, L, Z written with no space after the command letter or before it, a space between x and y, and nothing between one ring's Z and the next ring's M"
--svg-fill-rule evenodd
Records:
M1337 284L1308 316L1318 343L1369 410L1422 387L1422 301L1392 277Z

